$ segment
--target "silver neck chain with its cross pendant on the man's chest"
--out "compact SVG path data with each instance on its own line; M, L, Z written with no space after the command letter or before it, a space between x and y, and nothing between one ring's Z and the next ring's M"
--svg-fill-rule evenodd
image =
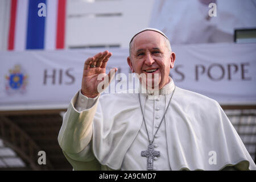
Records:
M176 86L174 87L174 91L175 91L175 88L176 88ZM172 96L174 96L174 91L172 92ZM139 93L138 93L138 95L139 95ZM159 128L160 128L160 126L161 126L161 124L163 122L164 116L166 115L168 107L170 106L170 103L171 103L171 100L172 100L172 96L171 96L170 101L169 101L169 103L167 105L166 111L164 111L164 115L163 115L162 120L159 123L158 129L155 131L155 134L153 135L153 138L152 138L152 141L151 141L150 137L149 137L149 134L148 134L148 131L147 131L147 125L146 125L146 121L145 121L143 110L142 110L142 106L141 106L141 97L139 95L139 105L141 106L142 117L143 117L143 121L144 121L144 124L145 124L145 127L146 127L147 138L148 138L148 142L149 142L148 149L145 150L145 151L141 151L141 156L147 158L147 169L148 170L153 170L154 158L160 156L160 151L155 151L154 150L153 143L154 143L154 140L155 140L155 135L156 135L156 133L158 133L158 130L159 130Z

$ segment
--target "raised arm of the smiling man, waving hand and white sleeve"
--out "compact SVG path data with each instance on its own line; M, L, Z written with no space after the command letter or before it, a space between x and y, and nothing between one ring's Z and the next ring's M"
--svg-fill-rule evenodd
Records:
M85 61L81 90L72 98L63 117L58 141L74 169L85 169L81 168L82 163L96 160L90 146L93 135L92 123L100 97L98 84L105 78L108 79L108 84L112 80L110 72L108 75L105 74L106 63L111 55L108 51L100 52ZM99 80L99 75L103 79Z

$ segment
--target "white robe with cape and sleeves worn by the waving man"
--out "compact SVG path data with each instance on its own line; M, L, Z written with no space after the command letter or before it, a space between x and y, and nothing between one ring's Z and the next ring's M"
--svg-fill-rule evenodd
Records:
M159 96L141 94L147 130L155 137L155 170L256 169L236 130L220 105L201 94L165 85ZM171 104L159 123L172 97ZM58 136L65 157L75 170L147 170L148 148L137 93L77 93L64 114Z

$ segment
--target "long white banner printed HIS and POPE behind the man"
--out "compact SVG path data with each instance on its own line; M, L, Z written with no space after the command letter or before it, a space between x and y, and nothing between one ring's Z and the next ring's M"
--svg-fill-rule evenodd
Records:
M176 61L170 73L177 86L220 104L256 105L256 44L191 44L172 49ZM0 52L0 110L66 108L81 88L84 61L104 50ZM109 51L113 56L108 69L118 68L116 76L128 75L129 50ZM112 86L117 81L116 77Z

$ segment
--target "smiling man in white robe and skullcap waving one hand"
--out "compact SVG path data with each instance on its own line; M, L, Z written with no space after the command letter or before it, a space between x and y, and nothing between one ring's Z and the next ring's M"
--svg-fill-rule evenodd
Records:
M175 86L175 53L163 32L146 28L131 39L127 63L139 93L100 94L98 76L111 80L110 56L85 61L81 89L64 114L58 141L73 169L256 169L217 101Z

